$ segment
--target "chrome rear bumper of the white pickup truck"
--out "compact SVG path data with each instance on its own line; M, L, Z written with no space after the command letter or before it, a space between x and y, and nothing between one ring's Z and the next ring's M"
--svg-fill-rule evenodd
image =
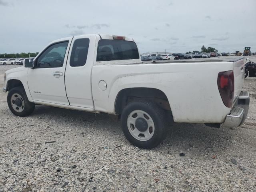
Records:
M241 91L230 114L227 115L223 127L237 127L243 124L247 117L250 104L250 94L248 91Z

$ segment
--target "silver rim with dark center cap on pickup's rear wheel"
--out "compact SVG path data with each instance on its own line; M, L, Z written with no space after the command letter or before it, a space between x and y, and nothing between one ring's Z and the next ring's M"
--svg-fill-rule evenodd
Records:
M153 119L143 110L134 110L128 115L127 127L130 134L140 141L150 140L155 132Z

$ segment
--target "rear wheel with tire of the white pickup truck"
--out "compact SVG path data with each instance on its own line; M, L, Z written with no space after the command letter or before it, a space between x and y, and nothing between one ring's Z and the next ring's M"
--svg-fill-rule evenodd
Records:
M164 110L156 103L149 100L135 100L122 111L122 131L133 145L151 149L164 139L166 134L164 117Z

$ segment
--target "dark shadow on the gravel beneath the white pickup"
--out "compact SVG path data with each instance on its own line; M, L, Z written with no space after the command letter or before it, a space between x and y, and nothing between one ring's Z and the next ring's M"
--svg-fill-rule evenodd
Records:
M66 127L67 123L72 122L72 126L81 132L87 126L94 130L95 134L97 132L104 133L109 135L110 139L118 140L118 143L130 145L122 133L120 120L114 115L36 106L32 116L39 117L46 122L52 122L53 126L54 123L58 122L58 126L63 128ZM89 134L93 134L93 132ZM154 150L219 152L229 148L234 137L238 139L236 135L236 128L212 128L203 124L172 123L168 125L164 142Z

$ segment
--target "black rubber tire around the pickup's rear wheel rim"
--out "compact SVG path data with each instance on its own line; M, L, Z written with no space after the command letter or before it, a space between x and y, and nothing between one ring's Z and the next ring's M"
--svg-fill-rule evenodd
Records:
M127 118L131 112L134 110L142 110L150 115L154 122L154 134L152 138L146 141L140 141L136 139L130 131L128 130L127 126ZM166 113L162 108L160 108L156 103L150 100L134 100L130 102L128 105L124 107L124 110L121 114L121 123L122 123L122 131L124 136L127 140L139 147L144 149L151 149L156 147L164 140L164 136L166 135L166 128L165 128L165 116Z

